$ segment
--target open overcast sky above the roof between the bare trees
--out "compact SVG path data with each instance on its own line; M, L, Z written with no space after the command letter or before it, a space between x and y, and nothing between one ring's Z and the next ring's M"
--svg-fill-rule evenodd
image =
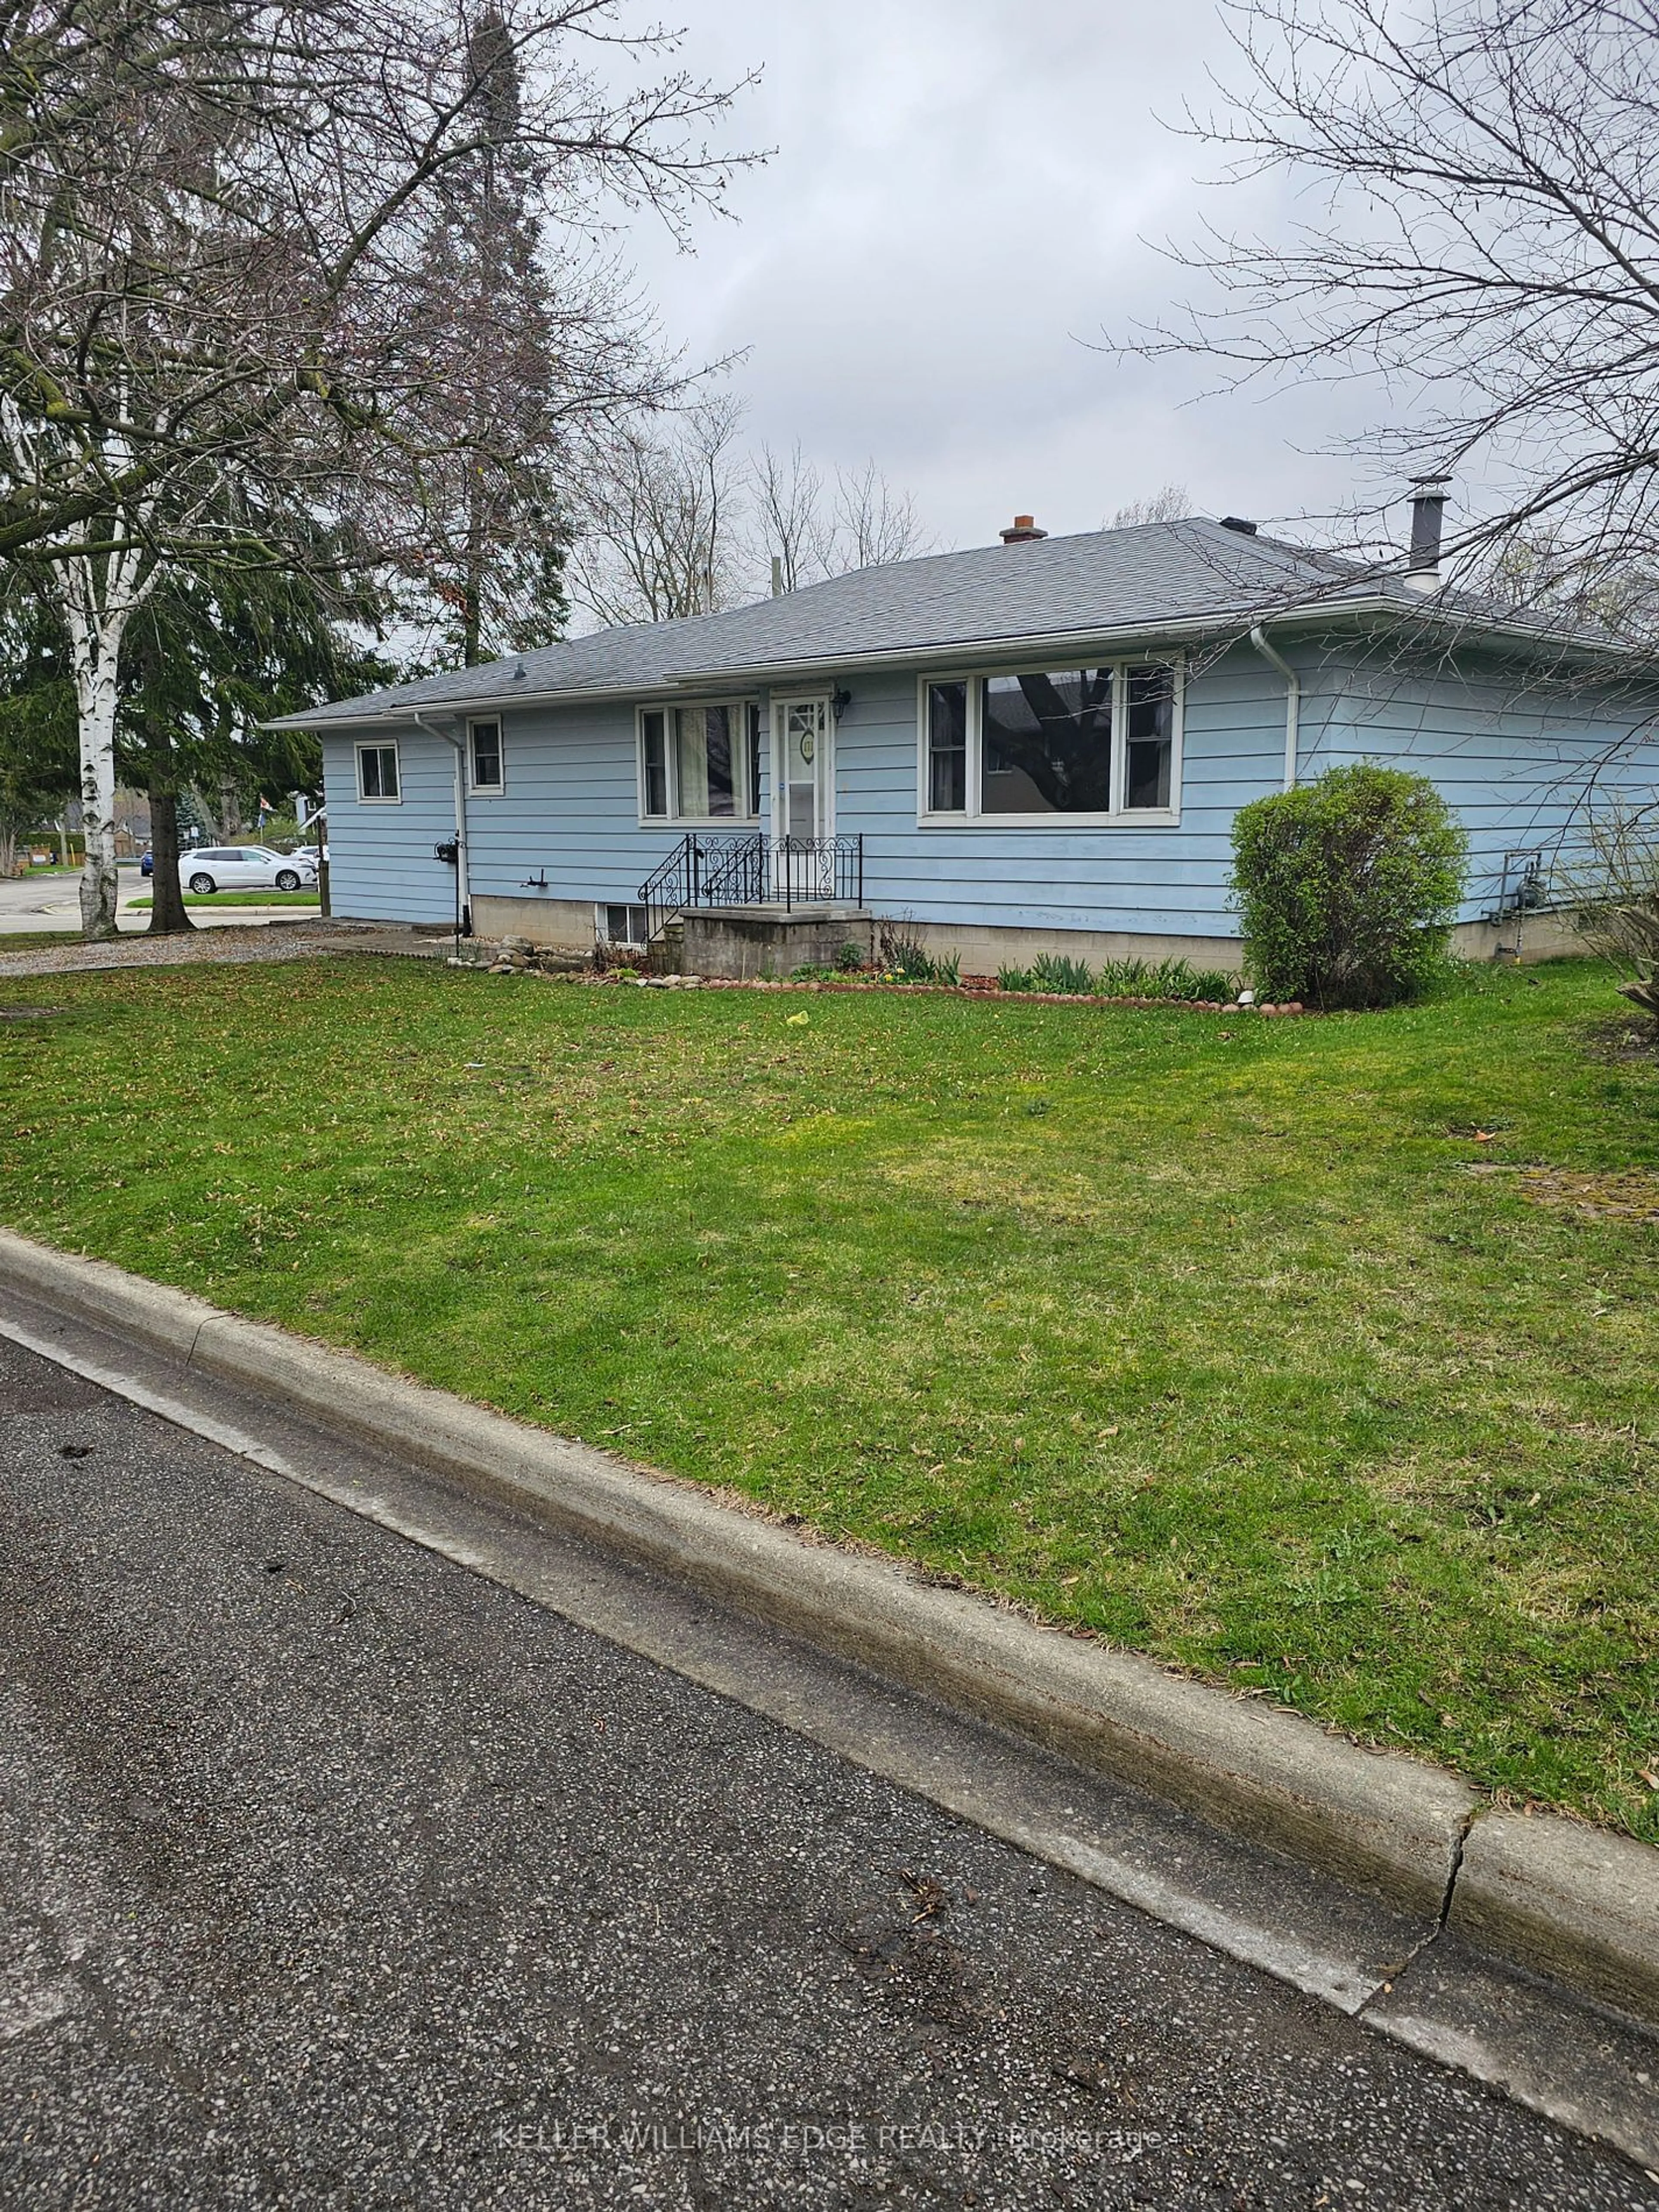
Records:
M697 254L630 241L666 334L748 347L752 436L825 465L874 456L945 544L1015 509L1097 529L1181 482L1208 513L1340 507L1354 467L1316 451L1367 420L1321 389L1203 398L1194 365L1121 365L1086 341L1188 281L1141 243L1283 219L1283 195L1206 186L1175 137L1228 66L1212 0L681 0L686 60L761 86L732 142L776 146L737 221ZM1183 405L1186 403L1186 405ZM1374 400L1369 403L1374 405Z

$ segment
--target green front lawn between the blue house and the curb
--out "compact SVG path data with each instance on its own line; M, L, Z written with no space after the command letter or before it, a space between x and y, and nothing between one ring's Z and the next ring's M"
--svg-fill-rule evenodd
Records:
M1604 971L46 995L15 1228L1659 1840L1659 1062L1590 1048Z

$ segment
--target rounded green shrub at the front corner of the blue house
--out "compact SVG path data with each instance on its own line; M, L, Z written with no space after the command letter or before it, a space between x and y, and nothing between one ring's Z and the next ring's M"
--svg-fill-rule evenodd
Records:
M1447 956L1467 845L1427 776L1367 761L1239 807L1232 889L1261 995L1411 998Z

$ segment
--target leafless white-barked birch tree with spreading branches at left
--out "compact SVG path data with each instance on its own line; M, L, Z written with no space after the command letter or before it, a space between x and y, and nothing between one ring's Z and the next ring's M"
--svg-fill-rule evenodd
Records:
M721 190L728 95L619 0L513 0L526 215L672 219ZM582 51L657 60L611 95ZM440 0L38 0L0 15L0 553L55 591L80 706L82 920L115 929L119 655L166 566L283 564L478 447L418 274L445 184L502 153L498 71ZM606 394L608 403L608 394ZM250 540L246 515L272 529Z

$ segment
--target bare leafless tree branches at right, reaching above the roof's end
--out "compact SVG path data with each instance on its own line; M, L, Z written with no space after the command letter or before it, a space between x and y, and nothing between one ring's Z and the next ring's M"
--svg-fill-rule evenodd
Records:
M1467 575L1659 637L1659 7L1237 0L1241 84L1188 126L1285 177L1279 237L1177 248L1206 296L1133 341L1389 383L1391 476L1480 462ZM1471 471L1473 473L1473 471Z

